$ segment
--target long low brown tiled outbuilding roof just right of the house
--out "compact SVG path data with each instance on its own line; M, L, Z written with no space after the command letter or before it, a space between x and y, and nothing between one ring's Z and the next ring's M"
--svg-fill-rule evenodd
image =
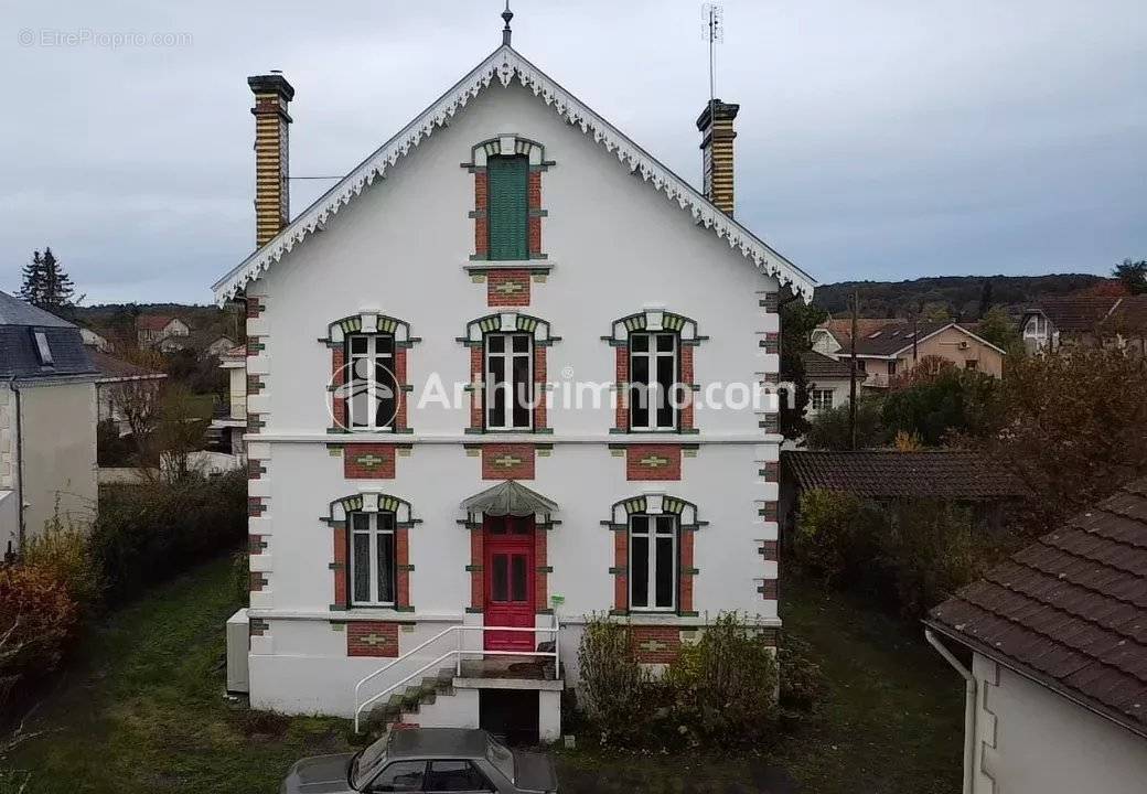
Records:
M985 456L962 450L794 450L781 466L798 488L842 491L869 499L999 499L1025 493L1009 473Z

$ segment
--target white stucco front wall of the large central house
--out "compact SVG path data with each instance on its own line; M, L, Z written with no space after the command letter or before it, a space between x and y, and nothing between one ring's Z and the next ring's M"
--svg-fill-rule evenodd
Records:
M535 268L529 304L515 308L491 304L487 282L474 272L484 264L471 260L475 174L460 168L471 162L476 145L498 138L540 143L547 163L540 187L546 258L514 263ZM559 652L567 683L577 677L579 625L594 613L612 612L643 626L642 648L650 654L643 661L650 663L672 651L666 644L688 641L708 616L723 610L778 628L780 436L774 412L755 411L750 403L699 407L688 431L618 433L607 389L596 406L567 407L556 397L544 431L483 433L471 427L469 395L447 406L438 399L442 392L427 399L424 390L438 382L450 394L455 383L470 382L471 349L460 337L470 321L499 313L548 324L546 380L556 388L614 383L618 359L603 337L616 321L646 311L695 324L693 382L701 388L772 381L779 361L765 340L775 341L780 330L778 289L775 278L518 83L494 81L471 99L384 180L365 187L320 232L245 283L248 302L258 306L248 312L252 343L245 369L258 381L245 406L248 457L257 470L249 489L252 706L350 716L356 682L389 664L395 653L352 655L349 632L362 625L383 632L397 624L397 653L406 654L452 625L483 624L485 614L474 606L474 589L482 585L473 540L482 530L467 526L460 505L497 484L485 460L491 445L532 449L532 472L513 478L557 505L552 523L535 530L545 534L535 606L536 625L551 626L553 609L563 626ZM405 382L412 390L405 433L329 429L333 353L325 337L330 324L354 316L368 318L367 324L376 316L408 324ZM379 444L396 445L392 472L349 476L356 450ZM676 452L679 473L642 475L630 457L637 444L661 445L669 457ZM408 505L408 550L399 553L406 554L408 578L405 600L396 608L338 602L333 529L337 538L342 514L331 504L360 493ZM642 495L650 495L650 505L662 504L662 495L688 503L687 514L695 519L687 528L692 559L677 561L682 590L676 609L658 614L618 602L615 505ZM684 548L681 540L679 555ZM463 641L482 647L477 632ZM401 660L368 692L385 688L454 643L450 635ZM557 696L539 694L548 705L541 730L551 738L557 730ZM439 699L434 719L476 718L467 709L468 716L450 716L461 702Z

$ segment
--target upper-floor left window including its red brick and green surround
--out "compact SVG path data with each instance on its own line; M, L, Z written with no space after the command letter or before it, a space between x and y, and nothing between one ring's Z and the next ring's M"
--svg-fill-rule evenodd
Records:
M407 421L407 355L421 340L409 325L362 311L327 327L330 350L328 433L412 433Z

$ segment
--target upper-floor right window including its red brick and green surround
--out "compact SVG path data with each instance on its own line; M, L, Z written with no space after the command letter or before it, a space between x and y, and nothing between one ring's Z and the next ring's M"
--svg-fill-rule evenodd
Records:
M615 421L610 433L697 433L694 348L709 337L682 314L646 309L612 324L602 341L615 355Z

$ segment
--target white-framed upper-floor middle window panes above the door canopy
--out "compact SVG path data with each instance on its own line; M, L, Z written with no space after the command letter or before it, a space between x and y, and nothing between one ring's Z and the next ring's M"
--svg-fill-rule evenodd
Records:
M533 428L533 337L498 333L485 337L487 430Z

